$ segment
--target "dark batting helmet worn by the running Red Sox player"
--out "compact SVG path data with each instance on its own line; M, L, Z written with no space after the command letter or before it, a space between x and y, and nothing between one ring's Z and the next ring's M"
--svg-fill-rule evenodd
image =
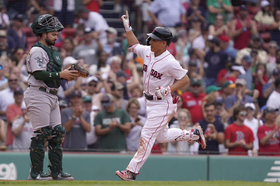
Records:
M166 41L167 45L169 46L169 44L172 41L172 33L169 29L164 28L164 27L155 27L152 31L152 33L148 33L147 34L149 37L146 40L146 45L150 45L150 40L156 39L156 40L162 40L162 41Z

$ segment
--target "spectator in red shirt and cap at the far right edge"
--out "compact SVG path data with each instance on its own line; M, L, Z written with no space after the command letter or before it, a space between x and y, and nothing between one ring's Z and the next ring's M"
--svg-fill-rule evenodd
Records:
M266 122L258 128L259 155L280 155L280 118L276 120L276 111L267 107L263 112Z

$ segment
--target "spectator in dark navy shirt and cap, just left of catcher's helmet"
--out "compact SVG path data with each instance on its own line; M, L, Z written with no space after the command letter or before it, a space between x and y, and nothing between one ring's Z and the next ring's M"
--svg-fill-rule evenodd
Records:
M25 32L22 30L22 26L24 24L24 15L17 14L13 20L13 26L8 29L7 34L13 37L16 41L16 48L22 48L24 50L27 49L27 37Z

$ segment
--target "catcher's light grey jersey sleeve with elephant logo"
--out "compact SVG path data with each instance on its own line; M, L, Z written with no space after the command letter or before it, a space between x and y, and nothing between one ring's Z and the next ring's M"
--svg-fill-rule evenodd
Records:
M47 70L48 55L41 47L33 47L27 57L31 72Z

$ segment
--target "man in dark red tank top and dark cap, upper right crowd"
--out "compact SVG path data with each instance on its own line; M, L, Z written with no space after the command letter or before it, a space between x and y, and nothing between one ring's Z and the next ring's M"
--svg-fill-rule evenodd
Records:
M248 17L246 5L239 6L239 16L230 24L230 37L234 39L235 49L244 49L252 34L257 34L256 22Z

